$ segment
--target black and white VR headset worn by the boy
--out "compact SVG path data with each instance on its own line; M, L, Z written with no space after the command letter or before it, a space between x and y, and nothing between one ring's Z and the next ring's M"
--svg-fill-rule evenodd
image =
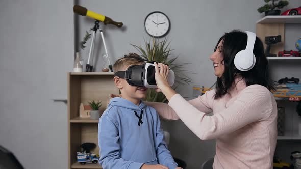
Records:
M115 76L126 79L131 86L158 88L155 80L155 65L152 63L132 65L126 71L116 72ZM174 72L171 69L169 69L167 81L170 86L174 83Z

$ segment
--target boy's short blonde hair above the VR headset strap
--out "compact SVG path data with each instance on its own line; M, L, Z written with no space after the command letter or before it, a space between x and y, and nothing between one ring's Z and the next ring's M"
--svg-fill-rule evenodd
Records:
M137 59L136 59L137 58ZM114 65L114 73L121 71L124 68L127 68L131 65L142 65L145 62L142 61L142 58L137 53L129 53L124 55L124 57L118 59Z

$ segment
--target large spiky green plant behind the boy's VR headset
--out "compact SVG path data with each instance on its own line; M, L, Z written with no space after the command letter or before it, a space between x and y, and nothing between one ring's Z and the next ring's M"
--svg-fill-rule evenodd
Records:
M174 49L170 48L170 42L168 42L167 38L164 38L162 41L158 38L150 38L148 42L144 39L144 47L134 44L131 45L138 50L142 58L148 61L156 61L157 63L161 62L168 65L169 68L173 70L175 75L175 85L173 85L173 89L177 88L179 85L188 85L191 83L191 78L186 74L192 72L184 69L184 66L188 63L174 63L178 57L173 57L172 51ZM145 101L165 102L166 100L163 93L157 93L154 89L147 90Z

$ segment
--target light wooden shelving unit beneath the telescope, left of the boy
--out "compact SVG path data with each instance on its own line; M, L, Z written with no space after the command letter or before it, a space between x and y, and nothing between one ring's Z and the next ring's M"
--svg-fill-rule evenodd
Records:
M77 163L77 152L80 145L92 142L97 147L92 153L99 154L97 144L98 120L79 117L80 103L87 101L102 101L101 112L106 108L109 94L118 93L113 82L112 72L69 72L68 78L68 168L102 168L99 164Z

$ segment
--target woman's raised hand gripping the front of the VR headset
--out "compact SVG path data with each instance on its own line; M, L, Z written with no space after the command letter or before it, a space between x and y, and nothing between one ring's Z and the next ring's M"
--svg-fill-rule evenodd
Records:
M170 100L171 97L175 94L177 94L169 85L167 81L169 68L167 65L164 65L162 63L154 63L155 65L155 79L158 86L158 89L156 89L156 92L161 92L166 96L167 100ZM159 70L160 66L160 70Z

